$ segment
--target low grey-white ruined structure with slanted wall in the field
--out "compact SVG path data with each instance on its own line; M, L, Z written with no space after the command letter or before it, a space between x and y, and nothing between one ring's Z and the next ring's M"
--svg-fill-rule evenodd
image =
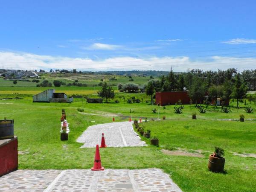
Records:
M33 102L73 102L73 97L68 98L65 93L55 93L54 89L48 89L33 96Z

